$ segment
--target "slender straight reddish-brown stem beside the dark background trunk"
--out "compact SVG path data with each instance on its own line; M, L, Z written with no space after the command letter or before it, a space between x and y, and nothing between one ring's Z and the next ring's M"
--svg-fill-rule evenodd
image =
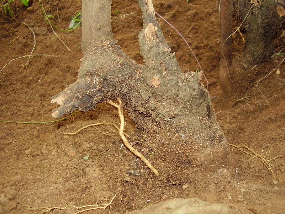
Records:
M221 0L221 61L219 80L223 91L230 90L230 66L231 66L231 45L232 38L232 16L233 16L233 1Z

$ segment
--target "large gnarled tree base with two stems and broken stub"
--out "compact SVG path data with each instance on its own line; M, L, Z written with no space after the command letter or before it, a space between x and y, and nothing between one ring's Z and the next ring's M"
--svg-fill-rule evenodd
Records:
M178 145L193 150L184 156L191 163L187 169L193 178L206 168L211 172L204 176L224 179L219 171L223 168L231 177L230 150L211 109L208 91L201 84L203 73L182 73L175 53L164 40L151 0L138 2L143 15L140 53L145 65L130 59L113 40L111 0L83 0L83 58L78 79L52 97L52 103L61 105L52 116L93 110L98 103L120 97L138 127L138 136L150 139L158 160L169 157L181 162L173 149ZM165 167L155 167L162 177L167 176ZM177 171L182 166L172 167Z

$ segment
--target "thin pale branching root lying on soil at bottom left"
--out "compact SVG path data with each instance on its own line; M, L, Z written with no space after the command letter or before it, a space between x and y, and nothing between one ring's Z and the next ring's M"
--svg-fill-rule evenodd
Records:
M85 210L80 210L80 211L77 211L77 212L73 213L73 214L78 214L78 213L86 212L86 211L89 211L89 210L106 209L113 202L113 200L114 200L114 198L116 196L117 195L114 195L114 197L111 199L111 201L108 204L91 204L91 205L80 206L80 207L72 206L72 205L67 205L65 207L32 207L32 206L24 205L24 207L28 207L28 209L30 211L38 210L38 211L42 211L42 212L50 212L50 211L54 211L54 210L65 210L68 207L73 207L76 210L80 210L82 208L91 207L91 208L87 208Z

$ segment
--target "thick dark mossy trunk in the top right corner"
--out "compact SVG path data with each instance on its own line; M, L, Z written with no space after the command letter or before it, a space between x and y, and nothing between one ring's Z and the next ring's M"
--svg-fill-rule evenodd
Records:
M245 19L246 43L242 64L253 66L265 61L273 51L272 41L285 24L284 0L234 0L238 15Z

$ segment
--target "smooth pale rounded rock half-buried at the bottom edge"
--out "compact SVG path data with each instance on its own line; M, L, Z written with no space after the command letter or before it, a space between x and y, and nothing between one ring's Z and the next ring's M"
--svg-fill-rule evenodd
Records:
M198 198L176 198L151 204L143 210L129 212L129 214L228 214L228 206L202 201Z

